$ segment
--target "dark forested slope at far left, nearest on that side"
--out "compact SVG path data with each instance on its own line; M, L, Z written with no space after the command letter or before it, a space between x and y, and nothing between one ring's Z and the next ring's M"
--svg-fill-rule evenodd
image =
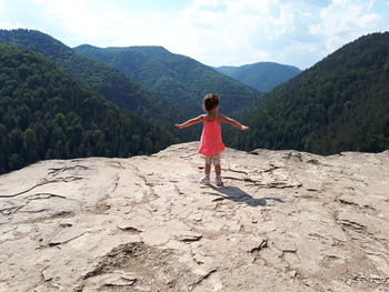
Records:
M41 159L151 153L173 142L43 56L0 42L0 173Z

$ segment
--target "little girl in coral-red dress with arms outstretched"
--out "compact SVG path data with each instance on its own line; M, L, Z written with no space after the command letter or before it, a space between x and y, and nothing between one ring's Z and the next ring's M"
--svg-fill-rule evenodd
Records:
M205 155L205 177L201 179L202 184L210 184L209 174L211 172L211 164L215 165L216 184L222 187L221 181L221 165L220 165L220 152L225 150L225 144L221 140L220 122L227 122L240 130L248 130L249 127L242 125L236 120L232 120L223 114L218 114L219 110L219 97L210 93L203 98L203 109L206 114L188 120L181 124L174 124L177 128L186 128L196 123L203 123L202 134L200 140L199 153Z

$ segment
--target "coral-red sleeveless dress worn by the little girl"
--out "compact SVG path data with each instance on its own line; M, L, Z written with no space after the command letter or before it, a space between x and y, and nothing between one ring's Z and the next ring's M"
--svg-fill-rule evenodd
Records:
M221 127L218 117L211 122L205 118L199 153L206 157L212 157L225 150L225 143L221 140Z

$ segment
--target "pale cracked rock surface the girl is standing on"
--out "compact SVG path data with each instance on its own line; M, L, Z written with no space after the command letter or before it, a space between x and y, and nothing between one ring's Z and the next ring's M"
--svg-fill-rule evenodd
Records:
M0 291L389 291L389 151L197 148L1 175Z

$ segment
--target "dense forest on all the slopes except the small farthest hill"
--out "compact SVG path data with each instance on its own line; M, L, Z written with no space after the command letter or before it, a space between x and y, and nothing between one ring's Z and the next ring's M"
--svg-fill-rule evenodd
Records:
M389 149L389 32L340 48L265 95L161 47L77 51L101 62L38 31L0 30L0 173L42 159L130 157L198 140L200 124L178 131L172 123L200 113L207 92L250 127L223 129L232 148Z

